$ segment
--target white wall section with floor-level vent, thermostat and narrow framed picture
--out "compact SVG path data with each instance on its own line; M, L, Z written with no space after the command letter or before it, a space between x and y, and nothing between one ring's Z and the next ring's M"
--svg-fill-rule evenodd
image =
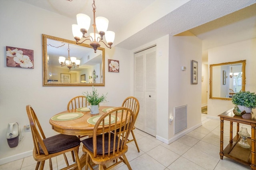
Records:
M198 61L198 84L191 84L191 61ZM182 71L185 66L186 71ZM188 105L187 128L174 135L174 122L168 126L169 143L201 123L202 41L195 36L174 36L169 40L169 117L174 107Z

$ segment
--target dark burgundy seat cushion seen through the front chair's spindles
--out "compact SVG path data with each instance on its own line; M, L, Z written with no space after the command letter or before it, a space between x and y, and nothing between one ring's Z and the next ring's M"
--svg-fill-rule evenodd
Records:
M113 148L114 148L114 136L115 134L114 133L111 133L110 134L110 152L113 152ZM117 150L117 144L118 144L118 136L116 136L116 149ZM104 142L105 142L105 146L104 146L104 149L105 149L105 154L108 153L108 133L105 133L104 134ZM87 138L87 139L84 139L82 140L82 143L84 144L84 146L86 148L88 148L88 150L90 150L91 152L93 152L93 142L92 142L92 138ZM121 145L121 140L120 140L120 145ZM120 146L119 146L120 148ZM102 134L98 135L97 136L97 154L103 154L103 150L102 150Z

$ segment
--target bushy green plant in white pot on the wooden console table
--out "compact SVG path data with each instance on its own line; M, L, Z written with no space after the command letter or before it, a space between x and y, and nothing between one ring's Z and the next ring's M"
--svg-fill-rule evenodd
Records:
M256 94L250 91L240 91L232 96L232 103L236 105L240 111L251 113L256 108Z

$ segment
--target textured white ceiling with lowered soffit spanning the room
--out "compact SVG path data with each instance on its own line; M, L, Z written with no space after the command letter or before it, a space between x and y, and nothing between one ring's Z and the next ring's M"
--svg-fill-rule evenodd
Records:
M70 18L85 13L93 18L92 0L20 0ZM169 0L96 0L96 16L109 20L108 30L122 32L155 1ZM177 2L174 0L173 2ZM151 10L154 13L154 10ZM150 20L151 18L144 18ZM134 24L135 25L135 24ZM132 28L134 25L130 24ZM121 31L120 31L121 30ZM127 30L127 28L126 28ZM256 0L190 0L114 46L134 49L166 34L184 35L189 31L208 48L256 38ZM92 32L89 31L88 32ZM118 34L116 34L118 36Z

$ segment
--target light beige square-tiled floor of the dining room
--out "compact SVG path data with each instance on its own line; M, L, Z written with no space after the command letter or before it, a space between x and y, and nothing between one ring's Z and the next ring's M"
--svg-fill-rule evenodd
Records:
M140 152L134 142L128 144L129 150L126 156L133 170L250 170L245 166L224 156L220 159L220 121L206 118L202 115L201 127L182 136L171 144L165 144L156 140L153 136L134 130ZM234 125L235 126L235 125ZM250 133L250 127L245 126ZM224 122L224 146L229 141L229 123ZM236 130L236 129L234 129ZM235 134L235 132L234 132ZM82 150L82 149L81 149ZM80 155L82 152L79 152ZM62 156L62 155L61 155ZM69 160L71 155L67 155ZM63 158L57 156L52 159L53 169L63 168ZM44 169L49 169L46 162ZM36 161L32 156L16 160L0 166L0 170L34 170ZM97 169L97 168L96 168ZM120 164L116 170L127 170L124 164ZM84 168L83 168L84 170Z

